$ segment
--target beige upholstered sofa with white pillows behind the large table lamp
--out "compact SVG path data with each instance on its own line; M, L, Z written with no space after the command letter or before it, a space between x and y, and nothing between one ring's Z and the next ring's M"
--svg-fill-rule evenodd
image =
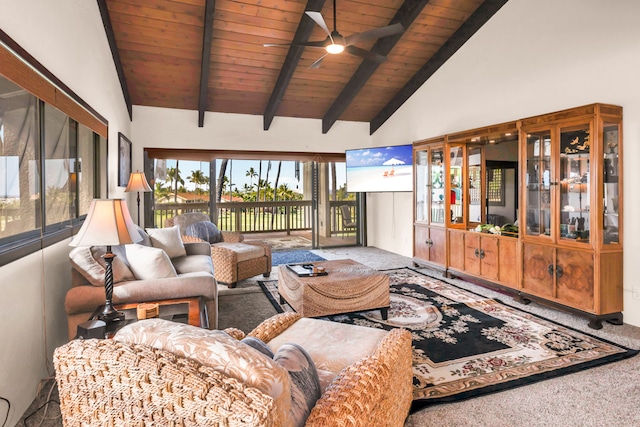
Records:
M138 227L142 241L135 245L112 247L113 303L203 297L209 328L217 328L218 287L209 245L183 243L177 228L147 231L152 235ZM104 253L105 247L77 247L69 253L71 289L65 297L69 339L76 336L78 324L105 303Z

